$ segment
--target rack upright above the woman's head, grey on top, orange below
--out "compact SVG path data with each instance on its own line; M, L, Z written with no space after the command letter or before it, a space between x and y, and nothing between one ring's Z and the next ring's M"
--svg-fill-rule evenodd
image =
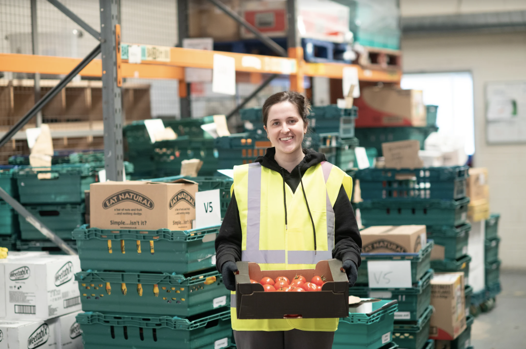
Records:
M296 74L290 75L290 89L304 93L305 88L303 84L303 48L301 47L301 37L298 32L298 1L287 0L287 19L288 19L288 33L287 33L287 47L290 58L295 58L298 62L298 71Z

